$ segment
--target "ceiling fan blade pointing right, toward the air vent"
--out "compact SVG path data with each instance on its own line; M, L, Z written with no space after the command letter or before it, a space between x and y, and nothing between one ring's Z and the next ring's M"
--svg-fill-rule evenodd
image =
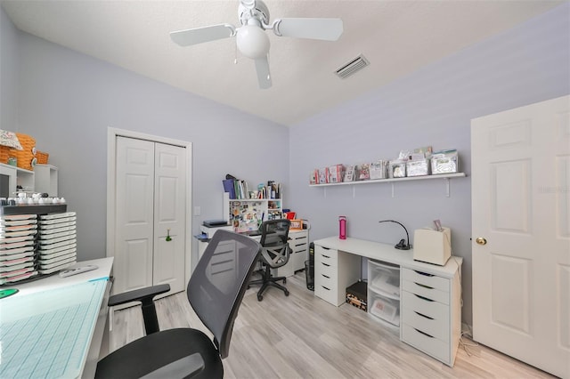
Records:
M273 32L277 36L336 41L342 31L340 19L280 19L273 22Z

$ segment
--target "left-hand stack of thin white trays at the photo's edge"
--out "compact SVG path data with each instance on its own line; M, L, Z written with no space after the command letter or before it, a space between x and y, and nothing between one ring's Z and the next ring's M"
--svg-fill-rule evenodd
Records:
M0 285L37 275L36 214L0 216Z

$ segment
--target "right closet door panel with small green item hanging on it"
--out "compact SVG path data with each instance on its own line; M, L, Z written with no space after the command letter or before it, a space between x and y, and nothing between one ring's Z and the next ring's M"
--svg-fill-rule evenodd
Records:
M171 293L184 290L185 149L156 144L154 189L153 284L169 284Z

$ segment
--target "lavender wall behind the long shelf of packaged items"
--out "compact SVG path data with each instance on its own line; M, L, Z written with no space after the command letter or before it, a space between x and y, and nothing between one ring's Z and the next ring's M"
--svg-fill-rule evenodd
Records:
M460 170L469 175L471 118L570 93L569 20L570 4L563 4L292 127L289 204L311 222L311 238L337 235L341 214L348 218L349 237L387 243L405 234L379 220L403 222L412 238L413 230L440 219L452 229L454 254L464 258L462 314L470 325L469 176L451 180L449 198L443 180L395 183L393 198L386 183L309 188L309 172L395 158L401 149L431 145L459 149Z

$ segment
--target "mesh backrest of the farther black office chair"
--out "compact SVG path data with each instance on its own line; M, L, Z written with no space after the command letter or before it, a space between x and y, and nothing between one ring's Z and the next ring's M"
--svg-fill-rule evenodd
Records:
M272 268L284 266L289 261L289 226L287 219L269 220L261 224L261 255Z

